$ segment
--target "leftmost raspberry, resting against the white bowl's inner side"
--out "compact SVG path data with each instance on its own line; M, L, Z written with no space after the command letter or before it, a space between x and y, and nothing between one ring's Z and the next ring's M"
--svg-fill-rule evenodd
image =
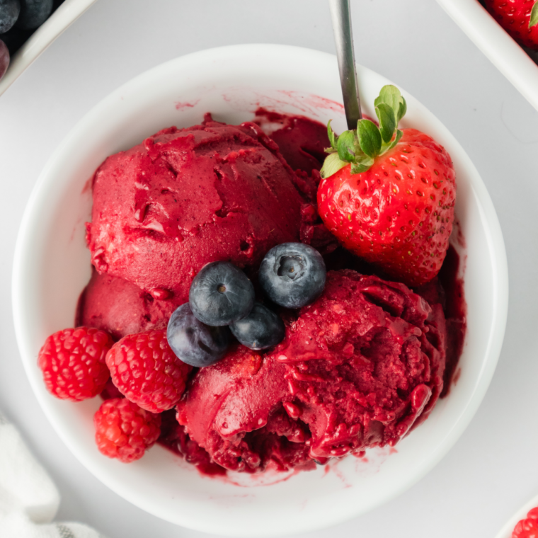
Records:
M48 391L73 401L99 394L110 377L105 356L112 345L110 335L96 328L66 328L49 336L38 355Z

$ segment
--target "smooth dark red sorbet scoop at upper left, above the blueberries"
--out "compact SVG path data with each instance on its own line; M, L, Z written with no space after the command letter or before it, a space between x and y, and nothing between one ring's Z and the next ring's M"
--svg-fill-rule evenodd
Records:
M299 241L297 181L253 123L164 129L96 171L92 263L158 300L186 302L206 263L257 268L271 247Z

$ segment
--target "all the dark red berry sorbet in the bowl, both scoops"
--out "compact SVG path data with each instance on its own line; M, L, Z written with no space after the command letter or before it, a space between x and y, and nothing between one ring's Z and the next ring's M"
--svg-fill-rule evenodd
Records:
M93 273L76 323L115 340L166 328L207 263L234 263L263 302L257 271L270 248L302 241L324 256L321 297L270 305L285 323L280 344L233 343L161 413L160 442L201 471L314 469L394 446L450 384L465 333L457 254L452 270L411 290L338 246L316 206L328 145L326 127L307 118L258 110L234 126L206 115L108 157L93 177ZM110 383L105 399L118 396Z

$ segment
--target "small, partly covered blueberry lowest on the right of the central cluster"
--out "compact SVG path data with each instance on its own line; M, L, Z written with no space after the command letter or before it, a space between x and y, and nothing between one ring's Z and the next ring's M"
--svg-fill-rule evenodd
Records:
M280 343L285 328L280 316L263 304L255 302L251 313L230 325L231 333L251 349L266 349Z

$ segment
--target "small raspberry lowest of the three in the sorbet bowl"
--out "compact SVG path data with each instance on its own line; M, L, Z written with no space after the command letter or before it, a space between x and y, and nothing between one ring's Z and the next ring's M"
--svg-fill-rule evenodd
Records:
M161 433L161 416L125 398L107 400L93 416L101 454L130 463L140 459Z

